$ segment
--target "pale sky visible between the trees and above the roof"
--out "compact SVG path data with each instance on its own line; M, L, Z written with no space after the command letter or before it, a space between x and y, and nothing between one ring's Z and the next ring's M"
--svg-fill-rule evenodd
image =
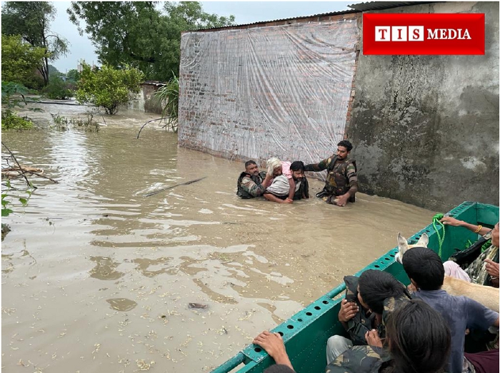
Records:
M330 13L349 9L348 4L359 2L361 1L201 1L207 13L219 16L232 14L236 24L252 24L259 21ZM80 36L76 26L69 21L66 9L69 8L70 1L53 1L53 4L57 14L51 24L51 30L68 39L70 46L66 57L61 56L51 64L56 66L61 73L76 68L80 59L90 64L99 64L90 39L86 34Z

